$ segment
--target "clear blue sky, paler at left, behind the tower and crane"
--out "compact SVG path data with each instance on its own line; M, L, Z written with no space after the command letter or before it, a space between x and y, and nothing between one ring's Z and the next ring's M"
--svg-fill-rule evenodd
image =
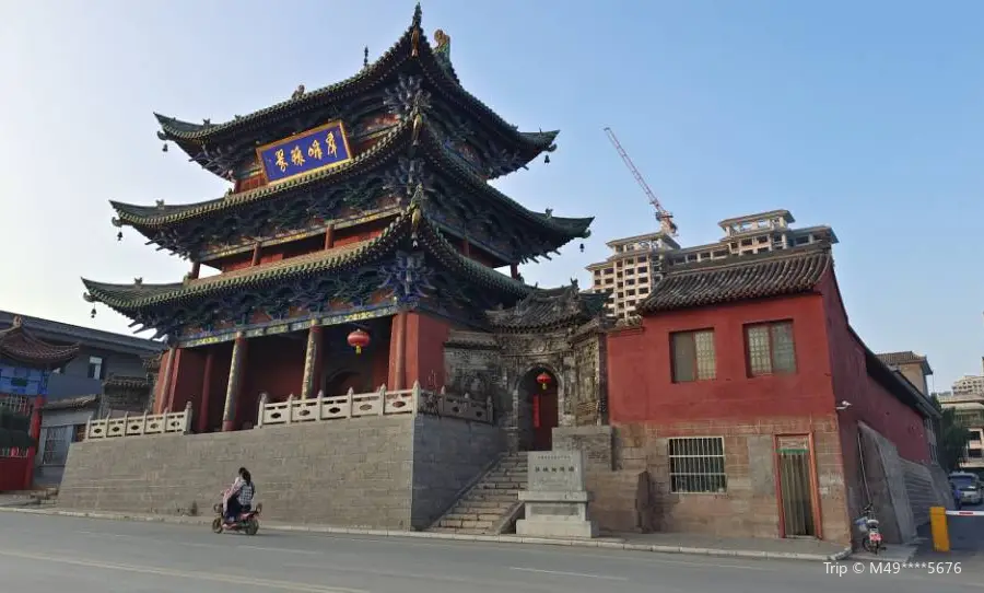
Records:
M108 199L222 195L161 152L157 111L212 121L345 78L409 25L412 1L56 2L0 20L0 307L89 318L80 276L174 281L184 261L125 230ZM933 5L930 10L929 7ZM597 217L586 252L528 266L578 277L605 241L655 226L611 126L683 244L789 209L830 224L851 322L876 351L929 356L935 386L984 354L984 3L427 0L462 83L523 129L561 129L549 165L497 182L542 211Z

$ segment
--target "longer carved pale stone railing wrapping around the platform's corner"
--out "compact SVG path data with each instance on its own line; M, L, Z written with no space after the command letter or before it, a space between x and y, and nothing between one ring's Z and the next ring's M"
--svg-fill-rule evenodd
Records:
M420 383L414 383L410 389L390 392L383 385L378 391L368 393L355 393L350 388L345 395L326 397L319 393L308 399L291 395L286 402L274 403L268 403L267 394L261 394L256 428L403 414L445 416L484 423L492 423L493 420L492 398L480 402L467 396L450 396L443 388L429 392L421 389Z

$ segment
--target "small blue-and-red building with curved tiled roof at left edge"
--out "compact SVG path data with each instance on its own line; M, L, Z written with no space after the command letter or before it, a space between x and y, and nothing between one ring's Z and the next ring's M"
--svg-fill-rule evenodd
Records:
M0 332L0 407L30 417L30 435L35 443L40 435L48 377L78 353L78 345L49 344L31 335L20 317ZM0 491L30 489L37 447L9 444L14 443L0 443Z

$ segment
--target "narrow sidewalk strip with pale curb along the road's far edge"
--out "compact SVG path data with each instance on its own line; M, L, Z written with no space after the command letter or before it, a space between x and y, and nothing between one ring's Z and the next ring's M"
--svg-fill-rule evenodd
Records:
M77 516L86 519L106 519L116 521L145 521L155 523L173 523L180 525L208 525L212 522L213 519L211 515L149 515L142 513L113 513L72 509L38 508L36 505L3 507L2 504L0 504L0 511L58 516ZM595 539L582 539L560 537L525 537L515 534L466 535L456 533L331 527L327 525L289 525L284 523L274 523L268 521L262 522L262 528L281 532L371 535L375 537L418 537L422 539L456 539L465 542L497 542L512 544L576 546L659 554L724 556L731 558L835 561L842 560L851 555L850 548L842 548L835 544L831 544L828 542L817 542L812 539L759 539L751 537L723 538L695 534L675 533L619 534L612 536L602 536Z

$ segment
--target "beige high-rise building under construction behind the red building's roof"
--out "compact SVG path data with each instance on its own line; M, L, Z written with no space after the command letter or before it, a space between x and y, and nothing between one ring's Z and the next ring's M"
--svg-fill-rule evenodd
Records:
M591 292L608 292L608 312L618 321L635 313L653 286L671 266L711 259L785 249L816 242L836 243L830 226L794 229L796 220L788 210L773 210L730 218L718 222L724 236L717 243L681 247L665 230L644 235L617 239L606 243L612 254L587 266L591 274Z

